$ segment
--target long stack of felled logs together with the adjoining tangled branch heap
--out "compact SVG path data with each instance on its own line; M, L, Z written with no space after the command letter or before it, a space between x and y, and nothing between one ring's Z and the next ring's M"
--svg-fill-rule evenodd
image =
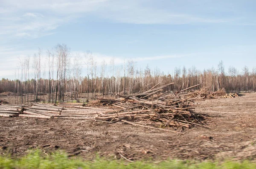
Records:
M193 99L195 98L180 95L181 92L198 85L176 93L163 93L165 87L173 84L157 87L158 84L144 93L117 95L118 99L103 98L93 102L93 104L105 105L103 108L90 107L83 103L59 103L58 105L33 103L32 105L23 105L23 107L12 107L13 109L8 109L8 111L20 117L30 118L82 119L108 123L122 121L165 131L171 130L163 129L163 127L182 129L201 125L204 116L194 113ZM11 107L0 105L0 109L3 111L7 111L7 108Z

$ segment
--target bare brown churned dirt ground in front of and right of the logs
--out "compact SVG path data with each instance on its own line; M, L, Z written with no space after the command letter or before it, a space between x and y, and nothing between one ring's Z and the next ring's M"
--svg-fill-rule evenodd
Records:
M8 98L7 98L8 99ZM90 160L96 155L130 160L256 159L256 93L200 101L195 111L209 115L206 126L177 134L129 124L95 121L0 118L0 154L23 155L62 149Z

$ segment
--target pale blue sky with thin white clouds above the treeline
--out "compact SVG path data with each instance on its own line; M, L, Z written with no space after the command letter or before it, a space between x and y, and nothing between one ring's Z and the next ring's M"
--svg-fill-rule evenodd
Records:
M138 68L256 67L255 0L0 0L0 79L20 60L57 44L98 65L133 59ZM30 59L32 60L32 59ZM82 76L85 76L83 71Z

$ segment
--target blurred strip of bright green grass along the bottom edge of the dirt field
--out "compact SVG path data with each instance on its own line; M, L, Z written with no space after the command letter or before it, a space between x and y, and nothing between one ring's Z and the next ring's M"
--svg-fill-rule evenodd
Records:
M250 161L224 163L191 162L169 160L160 163L96 158L83 161L81 158L68 158L67 154L57 151L50 155L40 150L32 150L21 158L0 156L0 169L256 169L256 163Z

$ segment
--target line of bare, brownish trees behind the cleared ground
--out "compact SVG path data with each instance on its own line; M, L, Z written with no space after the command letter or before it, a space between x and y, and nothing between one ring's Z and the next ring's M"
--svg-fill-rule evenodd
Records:
M40 96L47 94L47 102L65 101L65 96L77 100L81 93L87 99L96 95L113 95L115 93L134 94L144 92L154 85L175 85L166 87L165 91L177 91L201 84L194 90L204 88L216 91L224 88L228 92L256 92L256 68L251 71L244 66L241 72L230 66L225 72L224 63L220 61L217 68L197 70L192 68L174 68L174 73L165 74L159 68L151 70L137 67L133 60L124 60L123 65L116 66L115 59L107 64L104 60L97 65L90 51L81 57L71 57L70 49L65 44L56 45L47 51L47 57L41 56L41 50L32 58L20 60L15 71L15 80L1 79L0 93L17 93L20 103L28 102L28 93L32 93L34 101L41 101ZM82 67L86 68L86 76L81 76ZM90 96L89 96L90 93Z

